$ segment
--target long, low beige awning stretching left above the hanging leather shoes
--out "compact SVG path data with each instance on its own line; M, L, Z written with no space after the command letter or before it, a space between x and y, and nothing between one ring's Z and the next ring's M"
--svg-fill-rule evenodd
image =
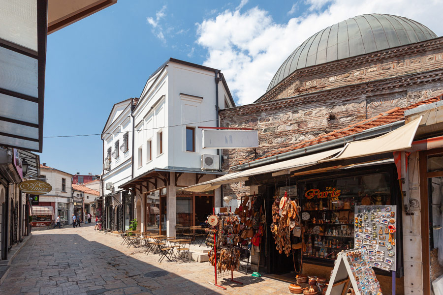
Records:
M194 184L185 188L182 188L182 190L190 191L190 192L205 192L209 190L216 189L220 187L222 184L232 183L236 181L244 181L248 180L249 177L259 174L266 174L266 173L272 173L272 172L281 172L280 174L288 174L291 171L302 169L308 166L312 166L318 163L319 160L328 158L339 151L341 151L342 148L336 148L332 150L327 150L315 154L310 154L290 160L286 160L283 162L277 162L272 163L260 167L251 168L248 170L230 173L223 175L219 178L215 178L213 180L205 181L202 183ZM274 175L274 174L273 174Z

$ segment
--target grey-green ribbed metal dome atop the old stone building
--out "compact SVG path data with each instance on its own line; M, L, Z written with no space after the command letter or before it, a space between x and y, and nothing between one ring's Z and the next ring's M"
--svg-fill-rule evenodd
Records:
M303 42L282 64L274 86L297 69L437 38L416 21L389 14L363 14L323 29Z

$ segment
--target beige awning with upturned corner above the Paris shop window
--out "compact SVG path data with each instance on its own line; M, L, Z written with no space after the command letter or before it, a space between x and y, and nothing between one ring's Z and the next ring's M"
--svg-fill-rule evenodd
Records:
M408 124L379 137L348 143L337 156L319 162L353 159L411 148L421 118L416 118Z

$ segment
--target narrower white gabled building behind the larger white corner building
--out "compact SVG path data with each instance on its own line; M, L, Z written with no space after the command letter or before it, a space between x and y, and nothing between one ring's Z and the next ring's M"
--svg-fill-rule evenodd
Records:
M103 228L123 230L132 218L132 200L128 190L119 186L132 178L131 108L137 99L116 103L103 128L103 174L100 198L95 202L95 214L102 217Z

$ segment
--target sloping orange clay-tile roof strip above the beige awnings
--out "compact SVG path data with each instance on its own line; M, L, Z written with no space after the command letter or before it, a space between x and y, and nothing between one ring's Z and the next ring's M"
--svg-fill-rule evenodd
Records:
M255 160L259 160L259 159L264 159L264 158L268 158L271 156L275 156L275 155L279 155L285 152L289 152L292 150L296 150L299 148L306 148L309 146L314 146L316 144L320 144L320 143L324 143L324 142L328 142L334 139L338 139L338 138L343 138L352 134L357 134L360 133L362 131L374 128L374 127L378 127L378 126L382 126L382 125L386 125L389 123L393 123L393 122L397 122L397 121L401 121L403 119L405 119L405 111L406 110L411 110L414 109L418 106L421 105L425 105L425 104L430 104L433 102L437 102L439 100L443 100L443 95L441 96L437 96L437 97L433 97L433 98L429 98L423 101L419 101L417 103L411 104L410 106L404 107L404 108L393 108L389 111L386 111L385 113L381 113L380 115L373 117L373 118L369 118L354 124L349 125L348 127L339 129L339 130L334 130L333 132L329 132L326 133L324 135L320 135L316 138L310 139L310 140L306 140L300 143L297 143L295 145L292 145L290 147L286 147L286 148L280 148L277 150L274 150L264 156L258 157L252 161L250 160L246 160L243 161L240 164L244 164L247 162L253 162Z

